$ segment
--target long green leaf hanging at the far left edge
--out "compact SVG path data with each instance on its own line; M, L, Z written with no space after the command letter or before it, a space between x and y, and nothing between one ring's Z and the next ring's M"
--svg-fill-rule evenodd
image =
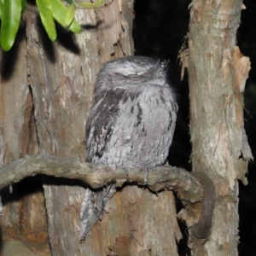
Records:
M1 26L1 46L8 51L15 43L20 26L21 0L4 0Z

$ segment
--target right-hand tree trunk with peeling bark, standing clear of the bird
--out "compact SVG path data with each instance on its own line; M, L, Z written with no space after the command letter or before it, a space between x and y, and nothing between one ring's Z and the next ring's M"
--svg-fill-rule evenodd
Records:
M212 177L217 200L212 236L190 241L194 255L236 255L238 184L252 159L243 124L243 96L250 69L236 47L241 0L192 1L189 23L190 131L193 172Z

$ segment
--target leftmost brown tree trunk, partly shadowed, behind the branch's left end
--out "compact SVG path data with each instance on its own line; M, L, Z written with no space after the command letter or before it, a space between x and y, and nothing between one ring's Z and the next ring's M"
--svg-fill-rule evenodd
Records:
M25 28L20 26L13 49L1 52L0 166L38 153L26 70ZM44 192L38 189L38 179L29 177L2 189L1 197L0 254L49 255Z

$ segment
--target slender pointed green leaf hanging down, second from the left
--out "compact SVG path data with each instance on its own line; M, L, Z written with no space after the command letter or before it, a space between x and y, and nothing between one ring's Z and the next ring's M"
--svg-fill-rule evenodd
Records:
M55 20L53 18L53 10L50 0L36 0L41 21L44 25L44 29L48 34L51 41L55 41L57 38Z

